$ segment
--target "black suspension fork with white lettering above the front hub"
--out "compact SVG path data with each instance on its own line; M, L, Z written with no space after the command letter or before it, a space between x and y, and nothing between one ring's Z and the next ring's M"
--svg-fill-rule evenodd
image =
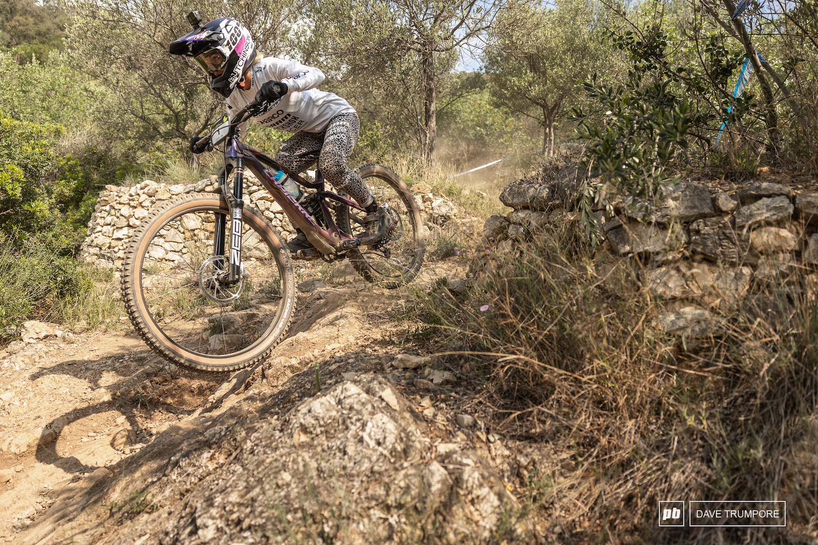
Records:
M231 153L232 152L232 153ZM244 192L244 160L238 157L236 147L232 141L228 142L227 150L225 150L226 165L224 174L221 178L222 196L227 200L227 208L230 209L228 214L216 212L216 230L213 234L213 255L225 255L226 243L230 246L230 260L227 266L227 284L236 284L241 279L241 231L243 228L244 206L243 199ZM231 168L230 168L231 167ZM227 178L231 177L233 180L233 188L230 190L227 184ZM227 237L227 221L231 222L231 237Z

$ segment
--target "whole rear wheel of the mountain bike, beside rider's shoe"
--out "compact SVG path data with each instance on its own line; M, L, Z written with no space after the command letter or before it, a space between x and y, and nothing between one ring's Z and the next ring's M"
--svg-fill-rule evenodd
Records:
M378 164L361 165L355 173L369 185L375 201L389 207L394 226L379 243L347 252L359 275L385 288L397 288L417 276L423 263L425 237L420 233L420 208L401 177ZM335 219L350 236L361 235L366 212L339 205Z

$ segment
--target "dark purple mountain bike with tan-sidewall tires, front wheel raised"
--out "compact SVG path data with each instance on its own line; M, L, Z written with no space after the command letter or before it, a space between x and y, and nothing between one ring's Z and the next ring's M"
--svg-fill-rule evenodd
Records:
M247 367L286 337L294 260L348 259L364 279L387 288L414 279L423 262L420 208L400 176L376 164L356 169L389 220L383 236L363 238L366 211L326 190L320 171L309 181L240 141L236 127L255 108L251 103L232 123L223 116L211 127L208 149L223 146L224 154L217 194L187 194L155 208L125 252L121 287L134 328L166 360L193 369ZM263 213L245 204L245 168L314 248L290 253ZM284 176L313 192L295 199Z

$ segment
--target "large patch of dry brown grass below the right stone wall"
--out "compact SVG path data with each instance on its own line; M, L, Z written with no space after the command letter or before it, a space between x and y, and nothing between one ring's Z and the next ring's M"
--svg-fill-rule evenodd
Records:
M807 276L759 284L723 313L721 332L680 339L656 327L661 306L632 264L604 265L570 232L527 248L492 255L468 297L432 293L425 319L446 337L438 351L483 353L450 357L488 375L493 431L561 453L522 483L540 533L815 543L818 304ZM788 527L658 529L667 499L786 500Z

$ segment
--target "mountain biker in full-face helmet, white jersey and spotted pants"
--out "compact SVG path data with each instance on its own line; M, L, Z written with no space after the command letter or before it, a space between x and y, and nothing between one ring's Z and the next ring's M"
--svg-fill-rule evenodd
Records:
M320 69L258 53L249 31L236 20L223 17L205 25L197 21L197 25L198 28L194 25L194 30L174 40L169 52L196 59L210 76L210 88L227 99L227 115L231 119L238 110L258 101L255 121L265 127L294 132L281 145L276 162L302 172L313 163L303 156L321 150L318 169L326 180L366 210L362 243L380 239L386 230L386 214L378 208L366 183L347 166L360 130L355 109L340 96L318 90L317 86L324 81ZM243 130L245 126L246 122L239 128ZM191 138L191 152L201 153L205 147L205 138ZM300 194L293 181L285 189L294 196ZM287 248L297 252L312 248L312 243L296 228L296 236L290 239Z

